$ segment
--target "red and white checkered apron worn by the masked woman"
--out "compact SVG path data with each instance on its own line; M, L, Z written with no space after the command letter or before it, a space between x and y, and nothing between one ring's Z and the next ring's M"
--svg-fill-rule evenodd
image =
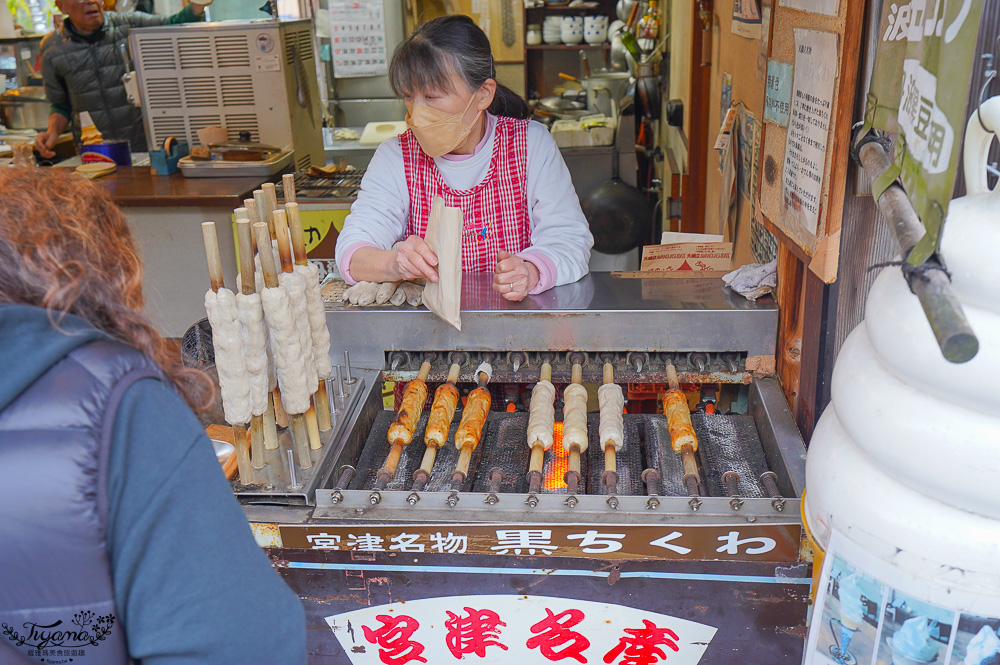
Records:
M445 184L434 160L420 149L413 132L403 132L399 144L410 193L406 235L424 237L431 202L440 196L445 205L462 209L462 270L493 272L501 249L514 254L527 247L531 236L526 194L527 138L527 120L498 117L486 177L472 189L455 190Z

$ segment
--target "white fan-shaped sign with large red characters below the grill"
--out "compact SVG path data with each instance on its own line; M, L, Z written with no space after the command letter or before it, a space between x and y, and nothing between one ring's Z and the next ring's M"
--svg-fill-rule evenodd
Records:
M716 628L610 603L550 596L424 598L326 617L353 665L696 665ZM669 654L669 657L667 657Z

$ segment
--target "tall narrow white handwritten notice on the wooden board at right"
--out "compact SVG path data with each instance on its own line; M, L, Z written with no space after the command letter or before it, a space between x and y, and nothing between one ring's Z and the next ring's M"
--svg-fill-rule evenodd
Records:
M837 35L796 28L782 199L786 224L812 235L819 226L836 76Z

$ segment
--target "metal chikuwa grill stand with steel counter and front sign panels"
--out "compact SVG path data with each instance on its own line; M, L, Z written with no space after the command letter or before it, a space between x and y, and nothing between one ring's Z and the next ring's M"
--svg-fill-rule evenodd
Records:
M773 302L747 302L718 280L594 273L508 303L490 282L464 276L461 332L423 308L329 303L342 367L322 458L295 491L239 492L258 542L303 598L317 661L443 663L474 653L491 663L556 662L575 645L576 662L660 662L628 660L648 647L641 633L659 636L649 648L667 648L670 662L798 662L810 581L800 547L805 449L767 376ZM452 481L459 404L429 477L414 477L425 410L395 473L378 483L395 417L383 407L385 383L410 381L429 362L429 408L453 364L465 392L484 361L493 408L464 482ZM542 363L557 387L557 421L574 365L591 394L607 364L636 397L662 390L668 365L695 392L724 384L732 412L709 406L692 418L697 491L655 413L625 414L617 482L607 482L593 407L577 491L564 481L558 441L529 491L524 405ZM478 634L493 642L460 639L463 621L484 616L496 618L495 632L483 624ZM571 619L583 636L572 643ZM562 650L532 642L550 635L545 620L562 631ZM677 649L663 641L671 639Z

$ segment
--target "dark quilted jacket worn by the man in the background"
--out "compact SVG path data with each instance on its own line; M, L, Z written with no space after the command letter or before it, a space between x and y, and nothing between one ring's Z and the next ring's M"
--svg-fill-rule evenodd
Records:
M66 19L62 28L49 33L41 45L42 76L52 112L74 121L81 111L88 111L105 139L124 139L132 152L146 152L142 111L129 104L122 83L125 64L119 45L127 46L132 28L202 20L204 17L195 15L191 5L173 16L105 12L103 26L81 35ZM79 143L78 125L73 122L73 136Z

